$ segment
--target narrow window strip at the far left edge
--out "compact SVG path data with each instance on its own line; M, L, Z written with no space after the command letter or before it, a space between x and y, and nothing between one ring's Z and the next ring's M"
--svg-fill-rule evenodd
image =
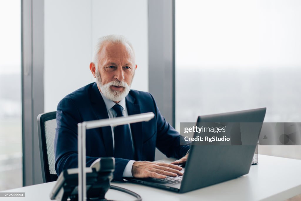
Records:
M22 187L20 3L0 2L0 191Z

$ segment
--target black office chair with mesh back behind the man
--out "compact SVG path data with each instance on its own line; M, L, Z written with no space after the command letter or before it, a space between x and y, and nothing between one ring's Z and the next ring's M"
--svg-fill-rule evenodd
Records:
M56 111L39 114L37 122L43 183L56 181L57 173L54 168Z

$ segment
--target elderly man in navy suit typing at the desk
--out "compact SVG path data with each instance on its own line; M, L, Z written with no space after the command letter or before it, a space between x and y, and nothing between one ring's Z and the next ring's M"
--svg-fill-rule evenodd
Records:
M131 43L123 36L99 39L90 71L96 78L64 97L57 106L54 139L55 168L77 167L77 124L83 121L115 118L154 112L148 122L102 127L86 132L86 166L99 157L115 157L114 179L123 177L166 178L182 175L189 146L180 146L180 134L160 114L154 97L147 92L130 90L137 64ZM167 157L178 158L172 164L151 162L155 148Z

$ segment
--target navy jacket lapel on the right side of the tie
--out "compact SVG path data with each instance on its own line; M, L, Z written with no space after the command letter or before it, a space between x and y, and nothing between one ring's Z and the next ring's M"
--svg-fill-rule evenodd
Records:
M126 108L128 115L140 114L140 106L134 104L135 98L128 94L126 96ZM130 124L135 147L135 160L142 160L142 145L143 145L143 127L142 122Z

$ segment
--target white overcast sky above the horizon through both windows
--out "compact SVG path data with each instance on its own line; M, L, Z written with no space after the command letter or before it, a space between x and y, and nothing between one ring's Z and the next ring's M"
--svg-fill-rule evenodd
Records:
M176 0L176 66L301 65L301 1ZM0 0L0 73L20 72L20 0Z

